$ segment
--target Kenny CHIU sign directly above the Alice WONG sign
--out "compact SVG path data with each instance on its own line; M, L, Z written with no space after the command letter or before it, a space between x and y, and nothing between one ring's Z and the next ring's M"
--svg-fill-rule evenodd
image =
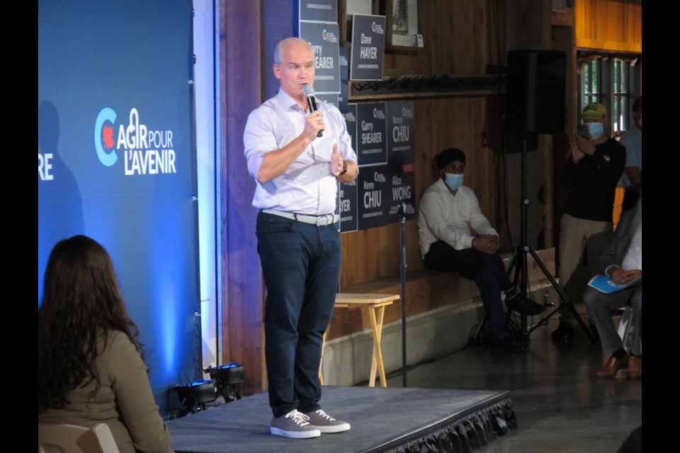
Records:
M408 164L416 159L413 101L387 103L387 161Z

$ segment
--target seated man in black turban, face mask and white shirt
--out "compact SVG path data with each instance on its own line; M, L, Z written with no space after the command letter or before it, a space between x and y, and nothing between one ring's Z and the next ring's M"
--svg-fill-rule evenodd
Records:
M450 148L437 156L439 178L423 194L418 213L420 251L426 268L458 270L475 280L489 319L492 344L518 352L523 347L510 338L505 326L501 292L509 310L532 316L545 306L522 297L498 254L498 233L480 210L472 189L463 185L465 153ZM470 228L475 230L472 234Z

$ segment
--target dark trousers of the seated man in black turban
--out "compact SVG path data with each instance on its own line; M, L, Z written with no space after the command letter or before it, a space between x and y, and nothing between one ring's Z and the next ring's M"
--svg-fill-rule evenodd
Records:
M501 291L512 288L512 282L498 253L485 253L475 248L456 250L444 241L431 244L425 256L430 270L458 270L463 277L475 280L480 288L484 311L489 316L489 329L495 338L510 336L505 327Z

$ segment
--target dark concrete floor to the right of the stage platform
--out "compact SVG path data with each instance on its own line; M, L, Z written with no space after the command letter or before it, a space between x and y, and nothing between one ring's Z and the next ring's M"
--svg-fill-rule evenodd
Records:
M477 452L616 452L642 425L642 381L596 379L604 363L599 343L577 328L571 345L555 345L551 320L531 334L526 352L514 356L486 346L418 365L407 386L509 390L519 429ZM402 386L402 376L388 379Z

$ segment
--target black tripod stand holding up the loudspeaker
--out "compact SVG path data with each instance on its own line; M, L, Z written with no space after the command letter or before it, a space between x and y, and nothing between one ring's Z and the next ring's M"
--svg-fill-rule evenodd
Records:
M540 319L538 323L535 323L533 326L529 327L527 326L526 322L526 316L522 315L521 316L521 333L524 336L528 336L531 332L535 331L539 326L547 326L548 325L548 319L550 319L551 316L553 316L557 311L560 311L563 309L563 307L567 307L572 312L572 315L574 315L574 319L576 319L579 322L579 325L583 329L583 331L587 334L588 338L590 339L591 343L595 343L595 336L593 333L590 331L586 323L584 323L583 319L581 318L581 315L579 315L578 311L574 308L574 304L572 301L567 297L567 294L565 293L564 289L560 287L560 285L555 281L555 278L553 278L553 275L550 275L550 272L548 271L548 268L545 267L545 264L543 264L543 261L538 258L538 254L536 253L536 249L533 248L533 246L527 245L527 239L526 239L526 222L527 222L527 209L529 205L529 199L527 195L527 190L526 190L526 135L523 137L522 140L522 200L521 200L521 243L519 246L517 246L516 251L514 256L512 257L512 261L510 262L510 267L508 268L508 273L511 274L513 270L515 270L515 275L513 277L513 283L517 287L519 284L519 288L521 291L521 294L523 297L526 297L527 295L527 289L529 286L528 282L528 268L527 268L527 253L530 253L534 262L538 265L540 270L543 272L543 275L545 275L546 278L548 278L548 281L550 282L550 285L555 288L555 291L557 291L557 294L560 295L560 305L557 306L553 311L550 311L548 315L543 317L543 319Z

